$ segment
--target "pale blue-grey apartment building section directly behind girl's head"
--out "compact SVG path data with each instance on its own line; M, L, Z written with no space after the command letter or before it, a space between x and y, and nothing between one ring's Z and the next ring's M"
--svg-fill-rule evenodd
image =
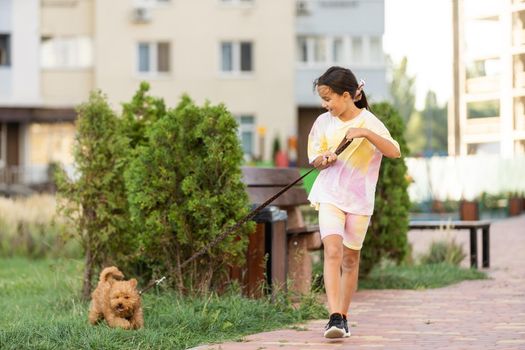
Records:
M350 68L366 81L369 102L388 99L383 51L382 0L299 0L295 23L295 102L298 108L298 164L307 161L307 137L325 112L312 83L329 66Z

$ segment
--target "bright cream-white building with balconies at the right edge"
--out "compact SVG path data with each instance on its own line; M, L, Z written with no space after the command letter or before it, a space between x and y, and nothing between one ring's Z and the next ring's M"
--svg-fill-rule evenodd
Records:
M525 1L454 0L449 154L525 153Z

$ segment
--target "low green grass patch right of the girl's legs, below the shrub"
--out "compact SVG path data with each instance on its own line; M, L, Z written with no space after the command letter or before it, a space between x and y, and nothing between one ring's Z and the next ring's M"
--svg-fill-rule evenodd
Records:
M359 289L425 289L440 288L464 280L486 279L485 272L450 264L387 266L372 270L359 281Z

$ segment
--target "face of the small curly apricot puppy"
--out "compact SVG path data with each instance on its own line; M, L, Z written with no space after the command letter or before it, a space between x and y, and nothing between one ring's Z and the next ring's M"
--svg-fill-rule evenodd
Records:
M113 313L119 317L127 318L133 315L134 310L140 303L140 297L136 289L137 280L114 281L111 284L109 304Z

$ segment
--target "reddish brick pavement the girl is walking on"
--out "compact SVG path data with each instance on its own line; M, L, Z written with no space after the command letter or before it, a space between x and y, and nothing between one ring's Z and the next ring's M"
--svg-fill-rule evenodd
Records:
M409 239L421 248L440 234L410 232ZM449 235L468 243L468 232ZM323 338L326 320L317 320L196 349L525 349L525 215L494 222L490 246L489 280L440 289L358 291L350 338Z

